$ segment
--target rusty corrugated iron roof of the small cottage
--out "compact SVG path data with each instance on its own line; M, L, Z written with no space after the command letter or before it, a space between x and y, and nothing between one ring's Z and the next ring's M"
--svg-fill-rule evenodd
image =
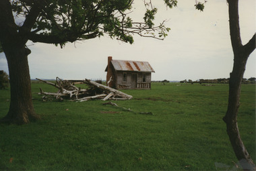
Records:
M111 60L115 70L155 72L150 63L132 60Z

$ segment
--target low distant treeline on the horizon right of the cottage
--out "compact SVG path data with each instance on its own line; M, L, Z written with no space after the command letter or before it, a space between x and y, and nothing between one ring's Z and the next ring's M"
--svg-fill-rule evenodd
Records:
M218 78L218 79L199 79L196 81L193 80L181 80L181 81L169 81L169 80L154 80L152 82L180 82L180 83L199 83L199 84L212 84L212 83L219 83L219 84L228 84L229 78ZM243 78L243 84L255 84L256 78L251 77L249 79Z

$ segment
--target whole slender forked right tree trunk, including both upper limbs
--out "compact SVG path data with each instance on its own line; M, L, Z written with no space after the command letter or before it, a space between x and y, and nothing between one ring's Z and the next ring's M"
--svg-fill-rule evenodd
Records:
M226 111L226 115L223 120L226 123L226 131L232 144L234 154L239 160L241 166L244 170L256 170L255 164L243 144L237 123L241 83L245 73L247 59L251 52L255 50L255 35L245 46L243 46L239 27L238 0L228 0L228 5L230 38L232 50L234 52L234 65L233 70L230 73L229 80L228 110Z

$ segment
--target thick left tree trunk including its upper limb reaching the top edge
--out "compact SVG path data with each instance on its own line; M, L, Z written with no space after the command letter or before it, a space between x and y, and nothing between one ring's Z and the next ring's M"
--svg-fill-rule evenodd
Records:
M9 111L0 122L24 124L40 118L32 105L28 68L30 50L26 48L28 38L18 32L9 1L0 1L0 16L0 42L7 58L11 87Z

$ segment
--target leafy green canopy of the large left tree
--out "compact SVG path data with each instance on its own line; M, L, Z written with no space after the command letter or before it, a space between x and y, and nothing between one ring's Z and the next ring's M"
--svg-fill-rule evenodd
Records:
M13 0L5 3L10 3L5 5L11 6L15 18L24 19L14 26L21 36L32 42L63 46L66 42L108 34L110 38L132 44L133 34L162 39L169 30L164 23L154 26L156 8L152 5L147 6L144 21L133 21L129 17L133 0Z

